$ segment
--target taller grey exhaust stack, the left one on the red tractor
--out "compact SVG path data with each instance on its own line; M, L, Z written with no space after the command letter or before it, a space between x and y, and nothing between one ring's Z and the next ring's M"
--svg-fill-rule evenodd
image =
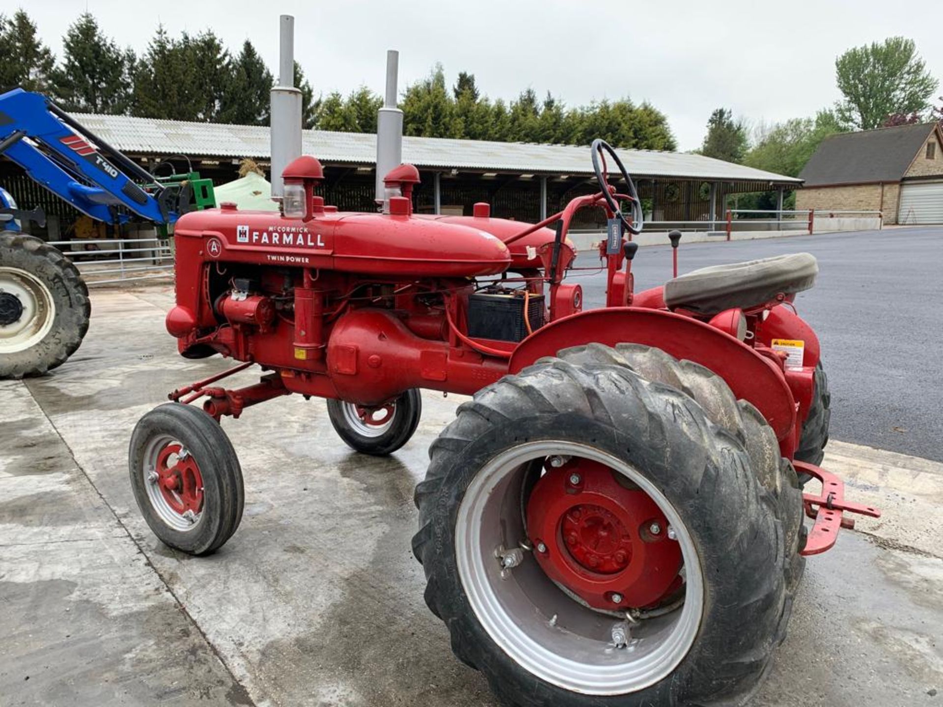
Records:
M272 198L285 192L282 172L291 160L301 156L301 91L294 88L294 17L278 18L278 85L272 87Z

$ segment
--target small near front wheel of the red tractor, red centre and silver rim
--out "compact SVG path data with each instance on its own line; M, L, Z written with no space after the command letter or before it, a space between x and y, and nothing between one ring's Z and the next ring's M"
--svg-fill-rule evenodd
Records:
M165 545L206 555L239 527L239 458L203 410L165 403L147 413L131 435L128 470L141 515Z

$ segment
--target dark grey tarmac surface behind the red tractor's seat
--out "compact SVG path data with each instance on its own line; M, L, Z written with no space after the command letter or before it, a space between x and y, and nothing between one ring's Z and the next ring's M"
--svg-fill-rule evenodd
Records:
M682 238L679 271L803 251L819 258L819 281L796 308L821 342L832 436L943 461L943 228L687 246ZM584 253L576 265L597 262ZM640 248L633 271L637 291L662 285L670 247ZM587 307L604 304L604 272L575 282Z

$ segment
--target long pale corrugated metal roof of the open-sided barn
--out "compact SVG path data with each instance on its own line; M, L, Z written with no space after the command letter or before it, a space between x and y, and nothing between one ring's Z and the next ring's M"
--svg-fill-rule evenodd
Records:
M113 147L128 153L219 157L269 155L269 128L256 125L183 123L118 115L75 113L73 117ZM306 130L303 150L325 164L372 165L376 136ZM701 155L620 150L633 175L729 182L798 183L801 180ZM443 138L403 139L405 162L423 169L485 172L591 174L587 147Z

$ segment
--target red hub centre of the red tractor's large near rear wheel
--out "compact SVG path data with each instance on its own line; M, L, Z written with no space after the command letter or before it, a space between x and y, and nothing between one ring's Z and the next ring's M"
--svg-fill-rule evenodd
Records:
M617 474L587 459L548 468L527 502L527 534L544 572L590 606L652 606L678 587L681 549L658 505Z

